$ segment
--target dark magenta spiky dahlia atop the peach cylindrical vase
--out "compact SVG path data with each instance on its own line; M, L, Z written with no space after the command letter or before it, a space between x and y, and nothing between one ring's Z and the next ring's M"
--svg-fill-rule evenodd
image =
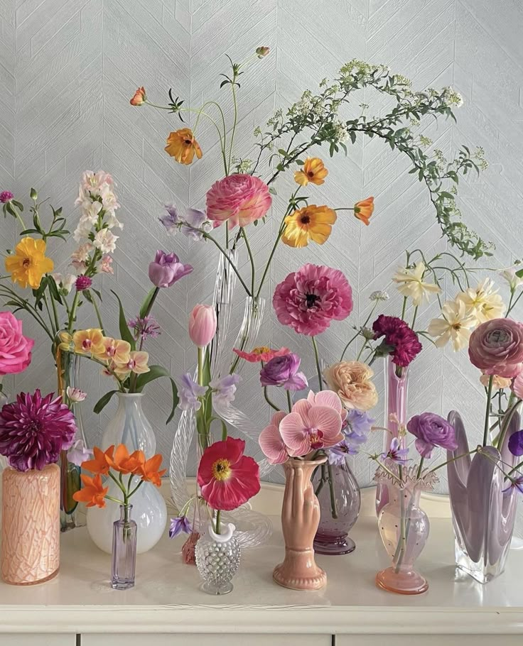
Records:
M60 451L75 440L75 416L53 394L20 393L0 410L0 454L18 471L38 469L58 461Z

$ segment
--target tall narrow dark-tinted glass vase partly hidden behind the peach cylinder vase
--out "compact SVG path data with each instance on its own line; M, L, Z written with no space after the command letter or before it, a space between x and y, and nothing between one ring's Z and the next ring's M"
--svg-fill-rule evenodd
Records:
M84 446L87 447L85 439L84 423L82 420L82 404L71 403L68 396L68 388L78 388L80 386L80 366L81 358L70 352L61 352L58 350L56 356L56 369L58 376L58 393L62 395L65 403L69 403L70 409L75 415L77 433L75 441L81 439ZM67 451L60 453L60 528L63 532L72 530L75 527L85 525L84 513L78 513L78 503L73 500L72 496L82 487L80 480L80 466L72 464L68 460Z

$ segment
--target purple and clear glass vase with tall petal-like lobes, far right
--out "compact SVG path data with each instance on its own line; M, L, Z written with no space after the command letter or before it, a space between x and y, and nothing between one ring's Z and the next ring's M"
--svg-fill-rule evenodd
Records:
M458 442L455 451L447 451L447 459L451 460L470 449L459 413L451 411L448 421L455 428ZM472 459L467 455L447 465L456 564L482 584L505 570L514 531L517 495L514 488L503 491L507 481L498 465L508 473L516 464L508 442L518 430L519 415L515 413L499 451L491 446L482 447Z

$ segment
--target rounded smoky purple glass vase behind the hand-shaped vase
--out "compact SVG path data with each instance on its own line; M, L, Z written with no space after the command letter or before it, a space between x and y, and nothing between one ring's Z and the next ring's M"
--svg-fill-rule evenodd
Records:
M328 469L333 479L332 493L330 483L325 482ZM350 466L345 460L339 465L323 464L316 469L313 486L321 513L320 525L314 537L314 551L318 554L350 554L356 544L348 533L357 520L361 506L360 487Z

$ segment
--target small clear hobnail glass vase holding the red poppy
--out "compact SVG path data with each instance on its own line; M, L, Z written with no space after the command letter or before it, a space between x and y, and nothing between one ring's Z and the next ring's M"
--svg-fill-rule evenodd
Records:
M196 567L203 579L200 590L220 595L232 591L232 578L239 568L240 546L232 522L222 524L217 534L211 523L196 543Z

